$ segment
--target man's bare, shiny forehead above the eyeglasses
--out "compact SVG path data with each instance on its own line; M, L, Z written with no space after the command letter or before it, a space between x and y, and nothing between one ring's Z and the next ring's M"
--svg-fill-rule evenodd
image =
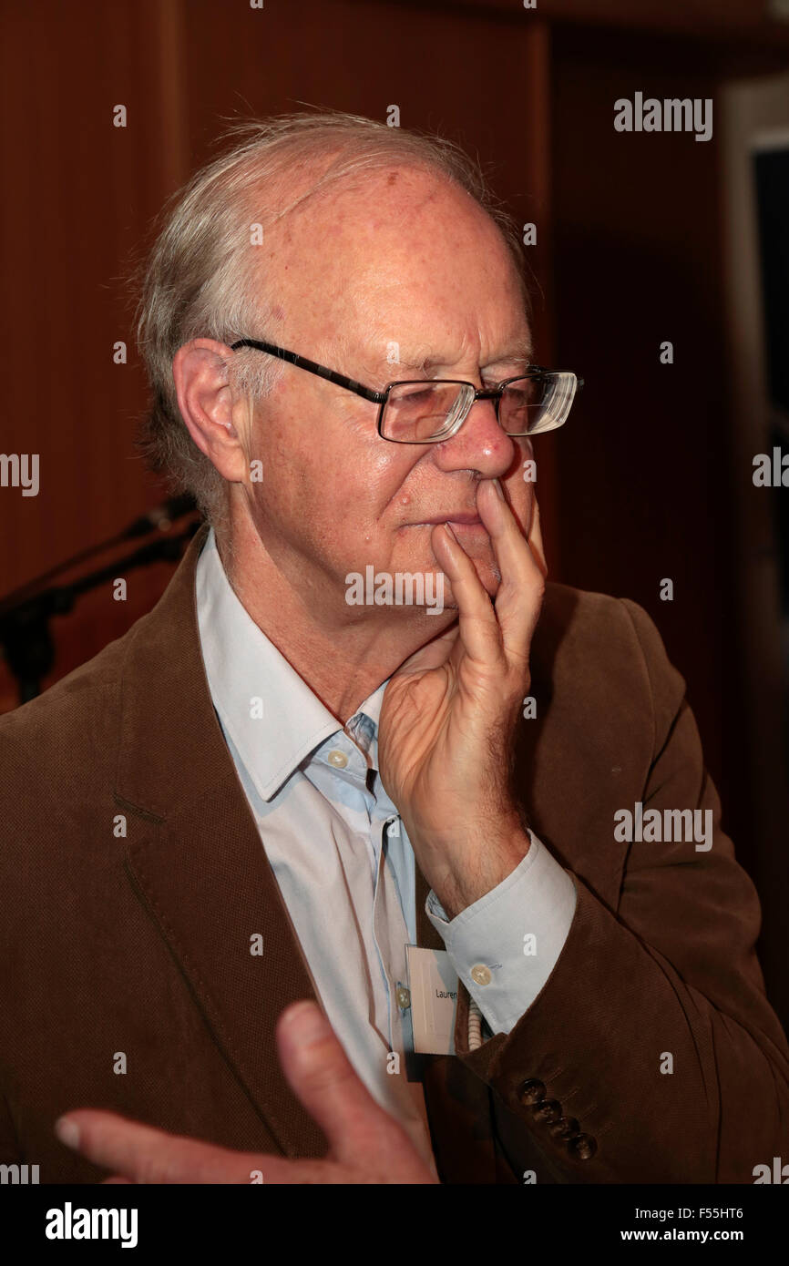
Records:
M451 247L442 235L426 238L424 225L394 205L388 184L394 175L394 189L407 197L453 204ZM352 377L367 373L370 385L372 377L382 384L398 375L448 376L451 368L461 376L461 366L466 377L475 362L480 370L512 363L518 372L533 353L526 287L489 213L434 171L404 167L365 176L374 177L374 189L343 181L313 204L327 218L328 237L310 223L306 242L299 235L286 243L281 289L294 290L293 305L285 305L294 315L287 346L300 351L294 341L301 334L300 344L315 349L304 354L320 360L320 348L325 363ZM374 214L363 211L360 233L358 222L338 211L372 194Z

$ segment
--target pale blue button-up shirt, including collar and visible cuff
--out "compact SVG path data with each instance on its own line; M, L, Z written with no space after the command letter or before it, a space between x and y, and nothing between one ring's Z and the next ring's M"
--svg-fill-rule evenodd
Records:
M434 1169L422 1085L405 1077L413 1036L398 989L408 984L405 944L417 943L415 858L377 772L388 682L341 727L248 615L213 530L195 595L214 708L315 993L371 1095ZM521 865L455 919L432 890L427 900L493 1033L528 1010L575 913L570 874L529 839ZM471 976L480 966L485 985Z

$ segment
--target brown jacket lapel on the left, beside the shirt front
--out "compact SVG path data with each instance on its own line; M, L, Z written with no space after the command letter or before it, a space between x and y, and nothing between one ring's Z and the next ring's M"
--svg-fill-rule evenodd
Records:
M322 1156L275 1044L281 1010L315 990L211 704L194 577L201 528L130 639L115 798L125 866L214 1041L286 1156ZM174 781L177 771L177 781ZM262 955L251 938L262 937Z

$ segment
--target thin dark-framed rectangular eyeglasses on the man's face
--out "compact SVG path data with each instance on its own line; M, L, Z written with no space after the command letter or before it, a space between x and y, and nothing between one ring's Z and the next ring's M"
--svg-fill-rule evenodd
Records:
M494 401L496 422L508 436L536 436L555 430L567 420L570 406L584 385L584 380L575 373L531 365L526 373L483 390L477 390L474 382L426 379L390 382L382 391L374 391L344 373L327 370L324 365L317 365L315 361L308 361L305 356L287 352L274 343L239 338L230 347L233 351L253 347L258 352L279 356L308 373L317 373L346 391L353 391L363 400L377 404L379 436L395 444L433 444L450 439L457 434L477 400Z

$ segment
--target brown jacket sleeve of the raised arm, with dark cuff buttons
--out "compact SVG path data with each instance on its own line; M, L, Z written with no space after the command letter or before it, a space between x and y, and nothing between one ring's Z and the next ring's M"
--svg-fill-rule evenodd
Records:
M789 1048L756 958L759 899L721 829L685 682L648 615L622 608L652 703L643 812L710 810L712 848L632 842L615 910L574 876L575 917L541 993L509 1034L469 1052L461 982L456 1053L559 1181L752 1182L756 1165L789 1158Z

